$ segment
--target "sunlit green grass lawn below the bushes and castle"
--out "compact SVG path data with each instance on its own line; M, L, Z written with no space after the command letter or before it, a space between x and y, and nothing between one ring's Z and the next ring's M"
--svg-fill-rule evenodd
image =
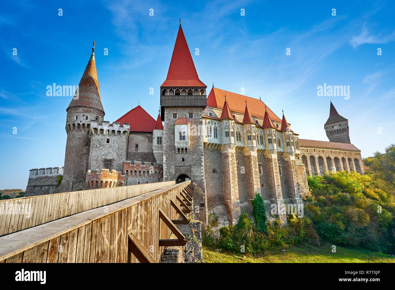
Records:
M285 254L281 250L285 250ZM367 250L355 250L336 246L332 253L332 244L323 242L321 246L299 245L297 247L282 247L257 254L216 252L214 248L203 247L205 263L395 263L395 257Z

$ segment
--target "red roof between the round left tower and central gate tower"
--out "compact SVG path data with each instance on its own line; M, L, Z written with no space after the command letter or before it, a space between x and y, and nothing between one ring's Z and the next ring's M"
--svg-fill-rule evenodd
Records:
M121 126L123 123L129 123L130 132L152 132L156 125L155 119L140 105L124 114L115 122L119 122Z

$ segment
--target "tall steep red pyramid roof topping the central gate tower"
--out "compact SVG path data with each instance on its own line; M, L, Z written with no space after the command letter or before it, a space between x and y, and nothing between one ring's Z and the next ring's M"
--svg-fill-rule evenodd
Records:
M186 43L184 32L180 26L175 41L173 55L169 65L167 77L162 86L192 86L206 87L199 80L198 73Z

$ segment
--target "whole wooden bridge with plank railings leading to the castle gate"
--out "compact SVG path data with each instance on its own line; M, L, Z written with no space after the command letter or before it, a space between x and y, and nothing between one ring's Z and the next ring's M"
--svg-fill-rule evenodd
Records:
M187 242L176 225L193 191L166 181L2 200L0 263L158 263Z

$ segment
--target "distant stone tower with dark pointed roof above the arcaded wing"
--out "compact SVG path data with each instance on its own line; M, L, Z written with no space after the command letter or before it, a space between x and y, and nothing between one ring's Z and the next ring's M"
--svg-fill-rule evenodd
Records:
M330 142L351 144L350 136L348 135L348 120L339 115L332 102L329 118L324 128Z

